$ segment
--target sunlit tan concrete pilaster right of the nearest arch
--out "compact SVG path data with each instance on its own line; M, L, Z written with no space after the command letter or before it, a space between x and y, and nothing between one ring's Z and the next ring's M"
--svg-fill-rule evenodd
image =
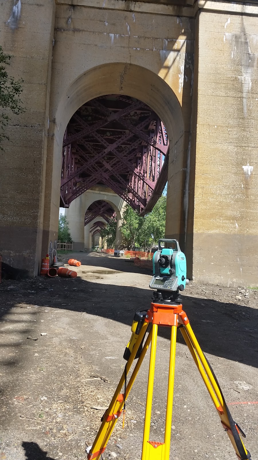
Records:
M195 279L258 283L257 17L199 17Z

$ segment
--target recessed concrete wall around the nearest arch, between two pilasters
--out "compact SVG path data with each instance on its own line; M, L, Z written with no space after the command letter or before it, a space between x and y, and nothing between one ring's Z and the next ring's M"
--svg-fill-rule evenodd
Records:
M149 14L144 12L147 5L138 12L89 8L83 6L86 3L56 6L48 145L52 173L46 187L52 193L45 200L45 209L54 209L59 203L54 177L60 177L62 136L70 117L91 98L127 94L150 105L167 127L168 198L174 200L168 233L180 237L187 214L182 199L191 123L195 21ZM45 224L55 227L47 219Z

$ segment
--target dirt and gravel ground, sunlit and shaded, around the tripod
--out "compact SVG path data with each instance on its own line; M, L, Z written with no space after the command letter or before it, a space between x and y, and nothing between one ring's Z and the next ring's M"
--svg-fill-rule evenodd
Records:
M75 280L38 277L0 285L0 460L86 458L85 448L92 444L123 372L134 311L150 305L150 272L128 259L102 254L69 257L83 263ZM247 432L246 445L255 460L258 292L191 284L183 305L233 417ZM163 440L168 351L168 330L162 328L151 422L154 441ZM129 397L125 430L119 420L104 459L114 454L140 459L147 368L148 357ZM174 460L235 458L181 337L171 446Z

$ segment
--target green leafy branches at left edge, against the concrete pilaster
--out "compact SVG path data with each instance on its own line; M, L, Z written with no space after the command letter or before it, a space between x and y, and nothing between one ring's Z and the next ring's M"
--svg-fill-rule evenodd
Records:
M8 110L11 110L15 115L24 112L19 99L23 81L15 81L6 71L6 65L10 65L11 58L11 54L5 54L0 46L0 108L2 109L0 114L0 150L2 151L4 150L1 146L3 140L9 140L5 134L5 128L11 120L7 115Z

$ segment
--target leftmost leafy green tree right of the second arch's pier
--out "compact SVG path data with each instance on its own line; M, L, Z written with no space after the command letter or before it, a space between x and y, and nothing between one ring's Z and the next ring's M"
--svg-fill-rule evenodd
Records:
M129 205L126 205L123 213L121 227L121 233L123 235L123 245L125 247L131 249L135 246L135 243L138 242L137 234L143 222L144 218L139 216L139 214Z

